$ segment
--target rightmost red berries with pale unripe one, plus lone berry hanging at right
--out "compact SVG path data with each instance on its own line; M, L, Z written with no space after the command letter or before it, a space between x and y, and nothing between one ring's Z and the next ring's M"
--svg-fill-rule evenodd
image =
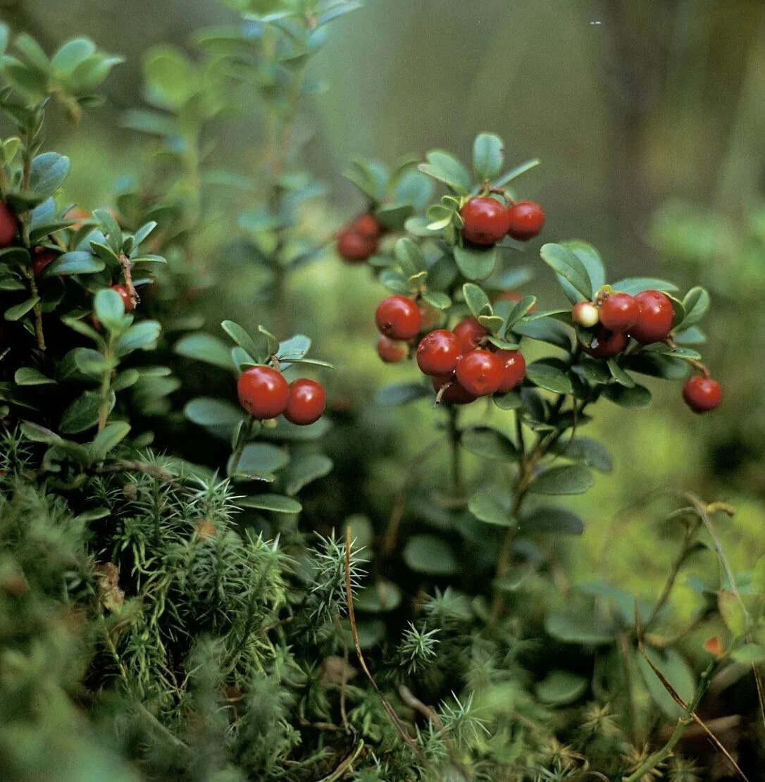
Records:
M641 345L666 340L672 330L674 310L665 293L647 290L629 293L605 289L595 300L580 301L571 311L576 325L587 329L582 350L595 358L612 358L621 353L630 338ZM702 376L689 378L683 399L695 413L714 410L722 401L720 384L708 376L703 364L696 364Z

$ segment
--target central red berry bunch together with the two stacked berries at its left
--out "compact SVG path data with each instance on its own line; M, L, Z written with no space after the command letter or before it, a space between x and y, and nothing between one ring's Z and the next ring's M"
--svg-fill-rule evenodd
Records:
M383 361L401 361L409 346L417 344L418 367L431 378L439 402L469 404L479 396L505 393L526 376L523 355L497 349L475 317L463 318L453 331L429 330L415 301L388 296L377 307L375 321L382 333L377 351Z

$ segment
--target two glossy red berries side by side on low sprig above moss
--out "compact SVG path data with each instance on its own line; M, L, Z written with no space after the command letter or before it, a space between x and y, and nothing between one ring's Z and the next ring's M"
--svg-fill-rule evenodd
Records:
M258 421L284 415L290 423L305 426L321 418L326 396L321 383L300 378L289 383L271 367L252 367L236 382L239 404Z

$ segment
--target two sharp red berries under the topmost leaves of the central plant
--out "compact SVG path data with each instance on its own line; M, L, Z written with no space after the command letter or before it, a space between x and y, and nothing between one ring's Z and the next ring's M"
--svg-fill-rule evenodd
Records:
M542 230L544 210L534 201L519 201L509 206L489 196L472 198L460 210L462 236L472 244L489 246L505 235L527 242Z

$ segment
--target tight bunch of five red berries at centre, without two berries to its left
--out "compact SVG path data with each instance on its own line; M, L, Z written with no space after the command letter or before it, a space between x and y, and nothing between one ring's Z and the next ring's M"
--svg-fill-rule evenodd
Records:
M475 317L465 317L452 332L438 328L422 338L417 364L430 375L441 400L468 404L479 396L505 393L523 381L523 355L518 350L495 350L486 341L488 333Z

